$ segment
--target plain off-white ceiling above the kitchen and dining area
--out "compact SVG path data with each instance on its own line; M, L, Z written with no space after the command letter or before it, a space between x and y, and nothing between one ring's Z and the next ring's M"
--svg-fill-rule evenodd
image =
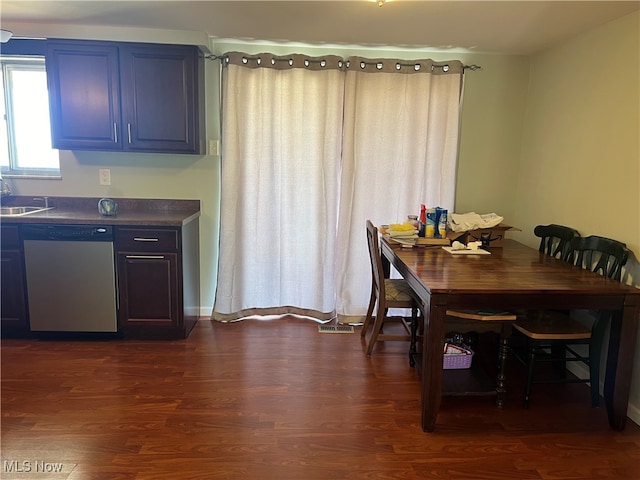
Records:
M275 42L530 54L640 8L626 1L1 0L0 22L144 27ZM19 32L16 32L19 35Z

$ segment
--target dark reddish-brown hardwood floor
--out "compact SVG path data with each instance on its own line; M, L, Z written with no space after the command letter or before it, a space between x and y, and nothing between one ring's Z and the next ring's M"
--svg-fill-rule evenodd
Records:
M446 397L420 429L407 344L295 318L202 320L181 341L2 340L3 479L638 479L640 428L585 385L522 408ZM56 471L59 470L59 471Z

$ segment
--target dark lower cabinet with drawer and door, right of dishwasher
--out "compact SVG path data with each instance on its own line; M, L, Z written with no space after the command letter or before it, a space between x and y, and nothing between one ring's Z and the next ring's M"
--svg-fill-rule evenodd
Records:
M191 230L117 228L119 322L125 338L186 338L194 327L199 310L194 269L198 276L199 271Z

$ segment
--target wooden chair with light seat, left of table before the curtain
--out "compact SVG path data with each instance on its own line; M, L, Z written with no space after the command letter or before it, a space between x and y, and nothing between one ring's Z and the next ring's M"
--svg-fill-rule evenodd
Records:
M418 322L418 300L413 289L404 279L385 278L382 269L382 257L378 239L378 229L367 220L367 244L369 246L369 259L371 260L371 298L367 316L362 326L360 335L366 336L369 326L373 323L373 330L367 342L367 355L371 355L376 342L408 341L409 364L414 365L413 354L415 353L415 329ZM387 312L390 308L411 309L411 319L407 321L404 317L389 317ZM373 315L374 310L375 318ZM384 333L383 325L389 322L400 322L406 334ZM413 332L413 334L412 334Z

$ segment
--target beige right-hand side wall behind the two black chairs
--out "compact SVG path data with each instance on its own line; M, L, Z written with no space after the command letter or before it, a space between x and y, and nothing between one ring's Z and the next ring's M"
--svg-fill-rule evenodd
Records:
M539 223L618 239L640 255L640 14L531 58L513 235ZM625 281L640 286L636 258ZM640 334L629 416L640 423Z

